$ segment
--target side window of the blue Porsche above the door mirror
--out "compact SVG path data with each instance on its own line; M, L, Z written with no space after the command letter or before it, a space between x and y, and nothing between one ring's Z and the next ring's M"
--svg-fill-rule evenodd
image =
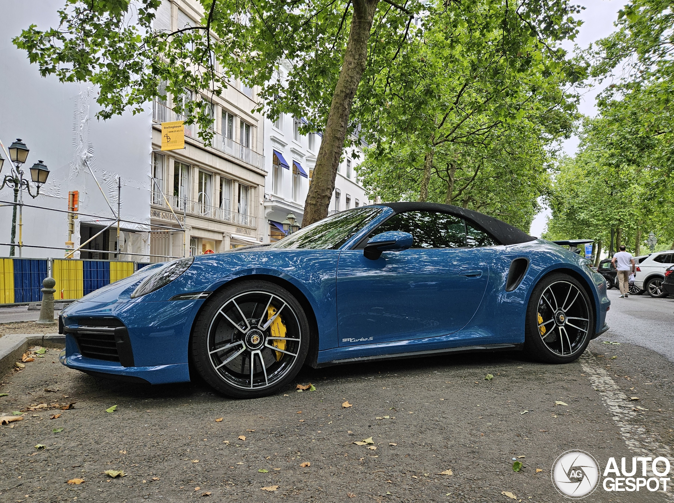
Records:
M398 213L379 225L369 237L386 231L402 231L414 236L412 248L466 247L466 225L461 218L434 211Z

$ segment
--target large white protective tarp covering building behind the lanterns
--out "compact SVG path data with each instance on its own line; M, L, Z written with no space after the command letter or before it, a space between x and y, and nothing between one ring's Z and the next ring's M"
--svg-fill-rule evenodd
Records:
M26 52L11 43L11 39L30 24L36 24L40 30L57 27L57 9L64 5L64 0L2 1L0 140L5 148L9 148L15 138L22 138L30 148L24 165L24 176L28 179L30 166L38 159L49 167L49 179L40 189L40 196L32 199L24 191L24 203L67 210L68 191L78 190L80 212L101 217L80 216L75 220L75 247L80 244L80 224L105 226L111 222L107 218L114 219L117 179L120 177L121 218L134 222L122 223L121 226L125 231L137 230L144 234L133 236L133 233L123 233L121 247L127 254L149 254L150 105L141 114L125 113L108 121L99 121L95 117L99 107L96 104L98 91L94 86L87 83L61 84L54 76L40 77L37 65L30 65ZM7 157L4 152L2 155ZM0 178L7 175L9 169L9 161L5 160ZM13 189L5 186L0 191L0 199L12 200ZM25 245L65 246L67 214L25 207L23 213ZM1 206L0 243L9 243L10 234L11 206ZM111 236L114 235L115 226L111 228ZM30 247L22 250L22 256L36 258L61 257L64 253L63 250ZM0 256L9 256L8 246L0 246ZM148 261L148 257L143 256L127 255L125 258Z

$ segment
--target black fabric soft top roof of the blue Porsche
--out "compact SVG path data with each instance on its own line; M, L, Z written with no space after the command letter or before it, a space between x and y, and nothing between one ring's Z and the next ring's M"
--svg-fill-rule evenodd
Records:
M501 222L501 220L498 220L497 218L487 216L477 211L459 208L458 206L451 206L450 204L438 204L434 202L385 202L373 206L388 206L396 213L410 210L437 210L451 213L477 224L478 227L487 231L487 233L495 237L495 239L502 245L516 245L518 243L527 243L528 241L536 239L535 237L520 231L517 227Z

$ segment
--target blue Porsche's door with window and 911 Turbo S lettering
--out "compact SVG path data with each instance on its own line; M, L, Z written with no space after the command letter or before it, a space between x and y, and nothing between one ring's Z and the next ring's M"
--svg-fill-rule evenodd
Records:
M384 251L377 260L365 258L362 247L367 239L384 231L412 234L412 247ZM473 246L491 239L475 229L469 234ZM367 239L358 249L340 253L340 346L451 334L475 314L487 287L492 251L468 247L464 220L435 210L402 212Z

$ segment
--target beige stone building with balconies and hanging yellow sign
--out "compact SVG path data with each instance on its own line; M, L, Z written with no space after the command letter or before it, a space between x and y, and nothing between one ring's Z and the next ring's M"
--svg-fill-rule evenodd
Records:
M195 26L202 12L194 0L163 0L154 27ZM186 125L185 149L160 151L161 123L184 119L173 111L174 103L199 97L167 96L152 104L151 223L176 229L152 233L154 255L181 257L183 248L185 255L225 251L264 241L267 234L260 225L267 175L264 120L251 113L257 107L254 88L235 81L221 96L202 96L213 102L210 146L195 125Z

